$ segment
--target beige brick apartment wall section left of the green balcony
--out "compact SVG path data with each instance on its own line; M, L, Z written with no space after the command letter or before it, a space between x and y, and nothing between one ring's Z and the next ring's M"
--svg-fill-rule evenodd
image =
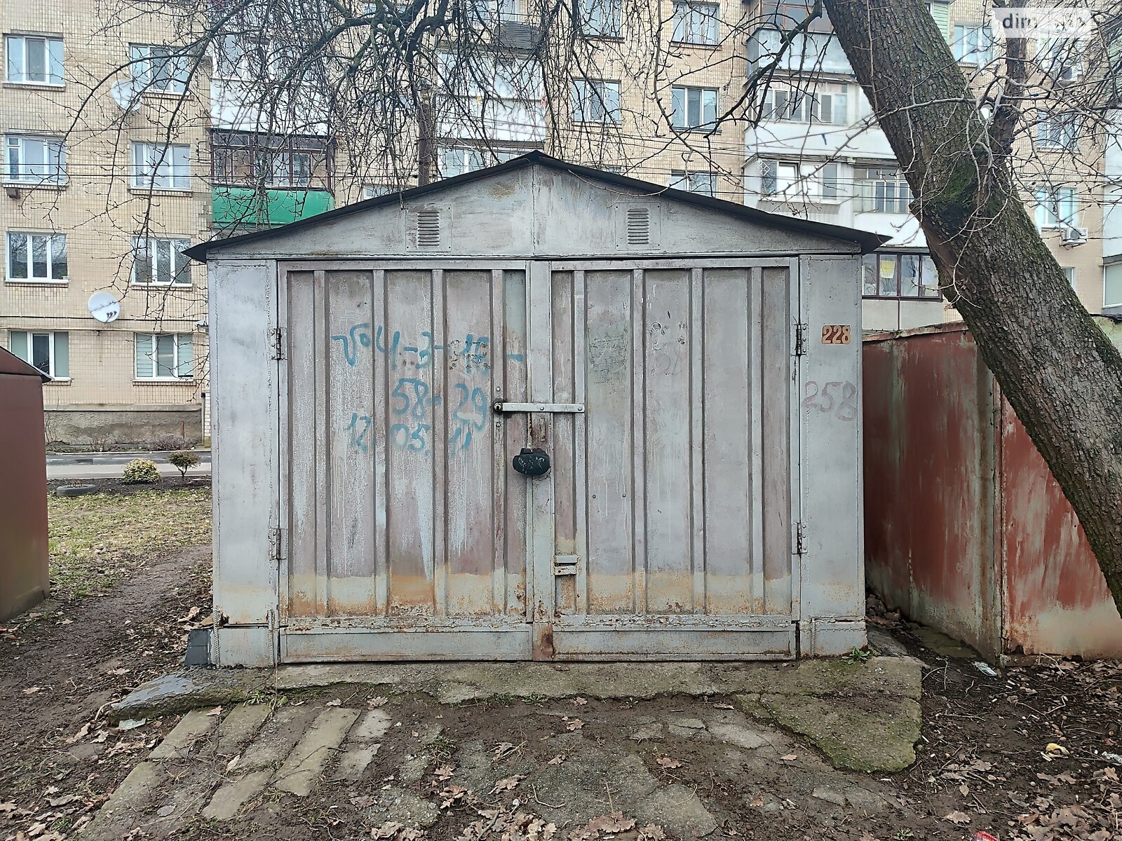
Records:
M206 279L181 252L208 235L206 136L165 127L205 98L162 59L159 16L110 35L84 0L0 8L0 342L50 375L49 438L199 440ZM139 98L96 87L130 62L138 78L165 77ZM95 292L120 302L116 321L91 316Z

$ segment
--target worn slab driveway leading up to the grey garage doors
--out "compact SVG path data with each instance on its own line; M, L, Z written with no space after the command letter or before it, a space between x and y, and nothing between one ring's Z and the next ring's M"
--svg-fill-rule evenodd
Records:
M886 697L910 683L912 672L918 682L913 664L717 665L698 674L780 693L801 685L801 694L790 696L799 709L795 697L820 700L840 687L833 672L844 672L847 686L866 687L857 699ZM696 664L613 664L609 697L569 694L573 685L596 688L596 667L545 667L540 677L546 669L558 676L541 681L550 696L512 695L500 690L522 688L497 665L451 664L431 692L404 675L431 677L429 669L439 667L402 667L390 697L377 683L307 687L314 681L304 671L287 676L289 686L305 684L287 696L258 688L250 700L263 703L192 710L82 838L301 839L301 821L325 821L339 839L371 832L394 841L591 841L619 833L633 841L736 839L744 837L736 828L743 830L745 812L776 826L810 821L833 837L847 814L891 821L899 810L892 786L838 770L837 760L792 734L790 724L780 729L761 705L780 694L721 700L689 691L663 695L656 686L637 701L626 697L629 668L642 676L634 686L644 694L663 672L677 681L683 665ZM536 665L523 671L534 673ZM497 677L485 692L478 685L466 692L468 668L477 678L489 669ZM598 668L608 674L607 666ZM870 742L882 740L877 728L896 717L866 715L861 738ZM129 834L137 830L145 834Z

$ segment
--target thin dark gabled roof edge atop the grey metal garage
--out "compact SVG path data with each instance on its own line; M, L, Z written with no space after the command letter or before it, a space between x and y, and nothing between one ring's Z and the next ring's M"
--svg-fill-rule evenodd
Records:
M735 216L737 219L755 222L756 224L770 228L854 242L861 247L862 253L875 251L891 239L879 233L862 231L856 228L834 225L826 222L812 222L810 220L795 219L793 216L787 216L779 213L767 213L766 211L748 207L746 205L738 204L737 202L728 202L724 198L714 198L706 195L699 195L697 193L688 193L682 190L673 190L672 187L641 181L640 178L631 178L626 175L608 173L603 169L595 169L579 164L570 164L559 158L551 157L542 151L531 151L496 166L477 169L471 173L466 173L465 175L457 175L452 178L444 178L442 181L433 182L432 184L426 184L422 187L413 187L399 193L390 193L375 198L367 198L366 201L348 204L337 210L320 213L314 216L307 216L306 219L302 219L297 222L291 222L289 224L280 225L279 228L254 231L252 233L246 233L240 237L228 237L226 239L213 239L209 242L201 242L197 246L188 248L184 251L184 253L193 260L204 262L206 257L212 251L240 247L259 240L284 237L295 231L313 228L315 225L341 219L343 216L349 216L355 213L362 213L364 211L368 211L374 207L401 204L406 201L430 196L463 184L469 184L475 181L489 178L502 173L533 165L570 173L590 182L599 182L601 184L614 185L626 190L641 191L642 193L651 196L657 196L660 198L680 202L682 204L715 210L720 213L726 213L729 216Z

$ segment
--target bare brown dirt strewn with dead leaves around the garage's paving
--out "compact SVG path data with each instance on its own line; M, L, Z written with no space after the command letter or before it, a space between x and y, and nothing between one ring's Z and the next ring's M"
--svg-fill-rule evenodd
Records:
M197 537L186 548L122 562L127 574L105 594L58 601L0 629L0 839L75 838L75 825L89 820L176 723L149 721L122 730L105 724L102 711L139 683L175 668L186 630L208 612L209 534L199 529ZM454 784L454 775L466 774L480 756L490 757L487 761L496 773L545 768L563 752L558 739L571 736L568 717L569 722L582 722L581 750L605 756L624 750L642 763L634 773L650 774L661 786L681 787L673 791L696 793L719 819L710 838L905 841L973 839L988 832L1001 841L1122 839L1118 664L1041 657L1010 664L991 676L969 659L946 658L922 647L914 627L891 617L877 621L891 626L927 666L918 759L898 774L831 779L859 784L883 797L884 807L835 803L824 792L829 788L825 764L806 745L790 748L785 756L795 759L789 760L718 750L715 742L686 731L657 745L632 738L643 722L723 714L730 699L588 699L582 704L498 699L440 705L427 696L380 700L366 686L337 686L263 700L280 711L322 709L333 700L362 709L384 705L399 726L386 733L365 782L325 784L298 801L266 794L251 821L200 820L172 837L368 839L379 825L370 810L371 794L393 788L402 796L439 801L444 780L438 769L456 768L447 780ZM513 750L496 759L504 743ZM419 773L403 775L407 761L417 758L423 758ZM618 807L613 792L625 787L614 779L632 771L604 773L603 802L595 805L607 815ZM535 814L557 820L565 813L563 803L551 802L540 791L508 794L521 797L523 807ZM503 793L485 787L478 798L473 805L462 796L453 798L424 838L461 837L480 820L479 810L502 801ZM588 838L637 839L637 829L601 830Z

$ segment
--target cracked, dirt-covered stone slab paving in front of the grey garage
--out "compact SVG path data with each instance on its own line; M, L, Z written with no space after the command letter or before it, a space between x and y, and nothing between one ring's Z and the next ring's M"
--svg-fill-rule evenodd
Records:
M885 701L886 693L877 694L885 682L912 674L910 666L900 671L899 665L882 660L880 667L874 663L850 669L880 687L864 696L866 702ZM333 804L357 808L361 837L396 822L417 831L443 826L447 832L440 838L456 838L459 829L453 824L465 823L470 811L463 808L465 798L502 808L513 797L515 805L523 803L561 832L620 811L637 825L661 828L666 838L732 838L720 830L727 825L725 813L698 794L702 765L710 766L705 771L710 778L721 776L734 796L745 802L753 797L752 805L764 812L798 807L824 815L830 810L875 814L892 808L891 791L883 784L836 769L828 750L824 756L797 736L800 714L776 700L783 697L782 687L802 686L802 695L791 697L819 705L825 703L824 693L837 687L836 680L818 667L806 667L801 676L794 674L799 668L804 667L769 669L763 676L771 692L733 695L733 703L661 694L661 702L636 702L620 691L615 693L619 699L578 706L589 702L574 699L572 686L555 685L551 699L515 699L497 695L500 686L494 684L488 690L491 705L479 705L478 699L459 697L466 684L463 672L457 672L452 683L458 690L447 684L434 687L433 695L458 695L443 704L419 696L414 686L397 685L414 692L375 696L377 687L367 686L356 701L359 691L343 693L343 700L333 694L338 686L305 687L289 696L255 699L266 703L194 709L132 769L81 837L86 841L208 838L192 832L224 823L245 830L258 819L300 814L314 802L327 808ZM588 675L577 672L569 682L587 688ZM918 674L916 669L917 682ZM307 678L291 682L306 686ZM743 676L736 682L743 684ZM549 681L539 685L544 684ZM478 694L477 690L467 694ZM870 761L875 765L884 756L894 761L892 751L879 752L883 746L876 733L879 727L883 732L896 727L899 708L889 704L883 720L867 710L863 714L866 729L859 736L870 743L868 755L881 757ZM829 732L824 738L829 742ZM838 752L844 755L844 767L852 750ZM681 764L674 757L684 757L692 766L692 778L663 773Z

